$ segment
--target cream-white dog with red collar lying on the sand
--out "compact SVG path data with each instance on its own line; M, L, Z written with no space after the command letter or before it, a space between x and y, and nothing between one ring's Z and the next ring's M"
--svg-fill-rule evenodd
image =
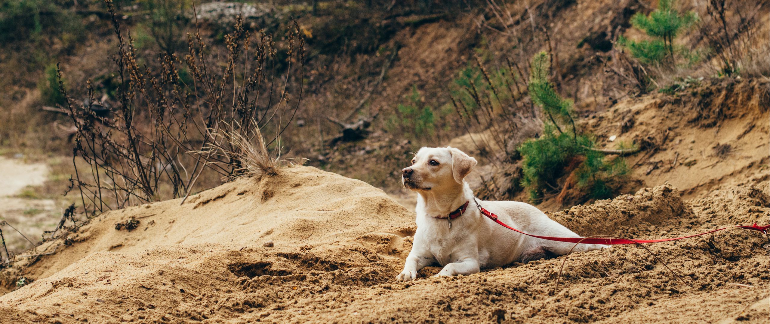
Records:
M542 240L516 233L484 217L474 193L463 179L476 159L454 147L423 147L403 169L403 185L417 191L417 232L403 271L396 277L411 280L431 263L444 266L437 276L479 272L480 268L527 263L567 254L573 243ZM480 201L499 220L524 233L580 237L536 207L516 201ZM578 244L574 252L601 249Z

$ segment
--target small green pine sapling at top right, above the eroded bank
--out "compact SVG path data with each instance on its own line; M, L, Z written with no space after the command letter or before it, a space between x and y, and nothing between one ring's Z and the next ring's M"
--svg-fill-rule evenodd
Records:
M631 18L631 25L644 31L651 40L632 41L618 38L618 43L631 51L631 55L644 64L661 63L667 60L676 63L676 57L686 58L688 63L698 58L686 48L674 44L674 39L698 21L695 12L681 14L674 8L674 0L661 0L658 9L650 15L638 13Z

